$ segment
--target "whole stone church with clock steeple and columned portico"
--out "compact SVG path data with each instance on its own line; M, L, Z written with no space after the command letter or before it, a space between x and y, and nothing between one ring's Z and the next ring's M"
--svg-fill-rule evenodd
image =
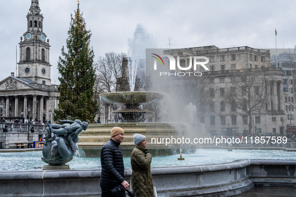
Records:
M45 122L58 107L58 85L51 83L50 44L43 32L39 0L32 0L27 14L27 30L20 41L17 73L0 82L2 116L24 117Z

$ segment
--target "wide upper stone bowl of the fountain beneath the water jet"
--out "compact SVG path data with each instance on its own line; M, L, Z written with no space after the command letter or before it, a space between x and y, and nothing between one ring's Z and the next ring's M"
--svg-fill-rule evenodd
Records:
M148 104L163 98L163 94L149 91L116 91L101 93L100 98L109 103Z

